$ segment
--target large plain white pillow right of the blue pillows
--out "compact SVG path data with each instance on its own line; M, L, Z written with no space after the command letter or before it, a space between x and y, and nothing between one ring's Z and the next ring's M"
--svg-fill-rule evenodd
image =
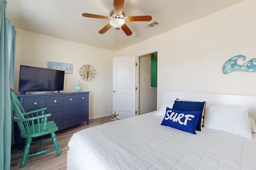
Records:
M252 139L248 110L249 107L242 106L208 106L204 126Z

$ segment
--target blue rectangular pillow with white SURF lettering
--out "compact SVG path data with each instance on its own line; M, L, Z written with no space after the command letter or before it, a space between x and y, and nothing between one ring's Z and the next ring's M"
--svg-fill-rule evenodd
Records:
M180 111L166 107L166 113L161 125L170 126L196 135L196 125L200 111Z

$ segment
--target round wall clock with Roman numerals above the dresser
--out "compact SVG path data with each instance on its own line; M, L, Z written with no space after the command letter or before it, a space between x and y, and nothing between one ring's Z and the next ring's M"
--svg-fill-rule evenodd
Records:
M79 75L84 81L92 81L96 76L96 70L91 65L83 65L80 68Z

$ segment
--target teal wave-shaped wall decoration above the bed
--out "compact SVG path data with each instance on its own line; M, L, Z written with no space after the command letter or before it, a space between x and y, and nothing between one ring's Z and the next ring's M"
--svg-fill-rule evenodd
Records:
M243 59L245 61L246 57L244 55L236 55L232 57L224 65L222 66L222 72L224 74L228 74L233 71L245 71L245 72L256 72L256 59L250 59L249 61L245 62L243 65L239 65L236 63L238 59Z

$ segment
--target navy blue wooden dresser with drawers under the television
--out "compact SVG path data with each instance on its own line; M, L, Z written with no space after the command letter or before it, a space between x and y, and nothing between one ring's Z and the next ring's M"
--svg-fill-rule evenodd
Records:
M89 92L61 92L51 94L17 94L26 112L47 107L45 113L51 113L48 121L55 121L58 131L87 121L89 124ZM23 149L25 140L20 130L14 126L15 140L19 149Z

